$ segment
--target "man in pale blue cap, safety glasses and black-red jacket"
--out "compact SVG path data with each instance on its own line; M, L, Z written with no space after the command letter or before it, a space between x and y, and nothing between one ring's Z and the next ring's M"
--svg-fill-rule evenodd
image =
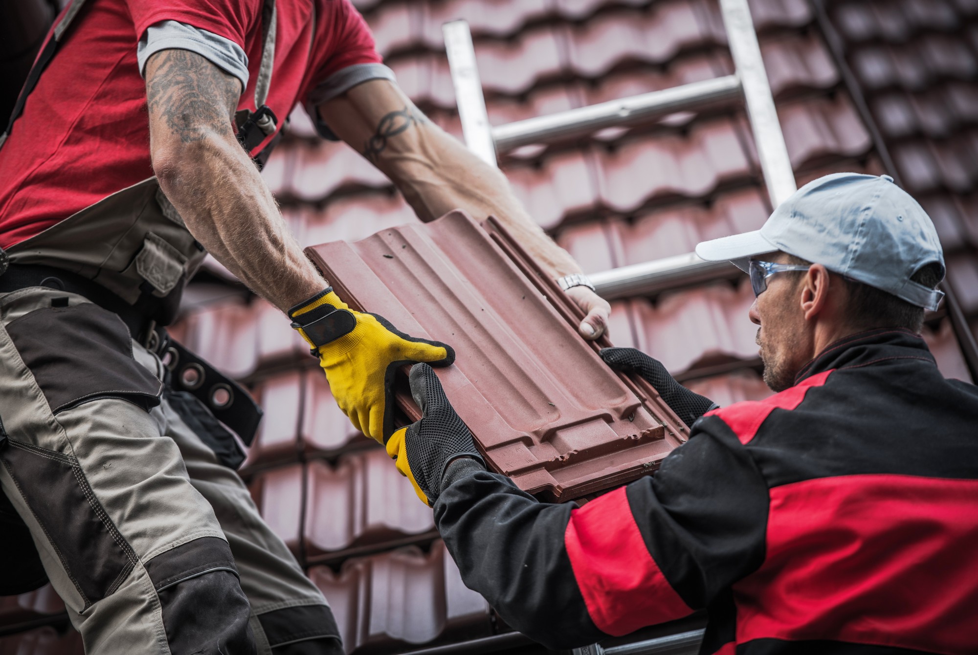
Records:
M919 334L945 270L930 219L887 176L835 174L697 253L749 271L778 393L718 409L605 349L691 434L583 506L487 471L415 365L424 414L392 455L466 585L555 648L705 610L701 653L978 652L978 388L945 379Z

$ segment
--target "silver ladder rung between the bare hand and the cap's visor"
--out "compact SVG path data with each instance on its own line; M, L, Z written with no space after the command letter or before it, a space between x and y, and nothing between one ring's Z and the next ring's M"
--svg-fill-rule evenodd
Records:
M598 295L606 300L658 293L677 286L737 276L730 262L707 262L695 252L622 266L589 275Z

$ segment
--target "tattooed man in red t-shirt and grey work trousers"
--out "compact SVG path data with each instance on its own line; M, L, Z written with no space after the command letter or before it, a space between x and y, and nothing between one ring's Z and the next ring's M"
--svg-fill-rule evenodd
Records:
M0 137L0 594L50 579L90 653L343 652L234 471L224 426L249 442L260 412L161 329L206 252L288 313L375 439L387 371L454 359L349 310L289 235L252 157L297 101L422 220L499 217L563 276L582 333L604 328L608 304L398 89L349 0L73 0Z

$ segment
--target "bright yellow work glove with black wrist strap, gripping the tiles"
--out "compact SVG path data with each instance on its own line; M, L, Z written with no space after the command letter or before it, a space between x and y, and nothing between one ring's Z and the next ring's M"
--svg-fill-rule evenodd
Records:
M394 431L391 385L397 369L455 362L451 346L409 336L377 314L351 310L332 286L289 309L289 318L319 357L339 409L381 444Z

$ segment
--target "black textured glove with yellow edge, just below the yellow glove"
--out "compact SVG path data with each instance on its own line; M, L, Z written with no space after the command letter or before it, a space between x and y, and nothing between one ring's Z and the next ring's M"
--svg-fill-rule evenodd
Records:
M396 461L401 475L411 480L418 498L433 505L441 494L442 476L449 462L462 457L485 462L431 367L416 364L409 379L422 418L394 432L385 445L387 455Z

